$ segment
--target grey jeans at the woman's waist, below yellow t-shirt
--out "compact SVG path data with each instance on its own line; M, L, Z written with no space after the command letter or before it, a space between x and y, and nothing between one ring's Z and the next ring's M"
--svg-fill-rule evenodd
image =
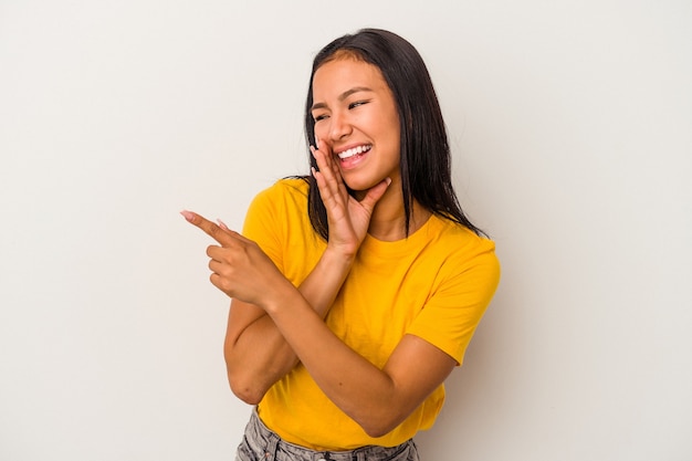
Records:
M349 451L314 451L285 442L252 411L235 461L419 461L413 439L397 447L367 446Z

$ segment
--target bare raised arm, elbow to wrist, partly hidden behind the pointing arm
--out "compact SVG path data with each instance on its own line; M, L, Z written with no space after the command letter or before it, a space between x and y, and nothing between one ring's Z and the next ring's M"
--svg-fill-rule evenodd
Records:
M350 264L350 258L326 250L294 293L307 303L321 322L344 283ZM290 298L285 301L290 302ZM233 392L249 404L256 404L298 362L264 311L237 301L231 304L229 313L224 356Z

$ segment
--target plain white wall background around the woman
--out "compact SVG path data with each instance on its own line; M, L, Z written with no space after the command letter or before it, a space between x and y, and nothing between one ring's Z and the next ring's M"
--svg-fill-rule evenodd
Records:
M692 3L0 0L0 459L228 460L184 208L306 172L315 52L410 40L503 279L424 460L692 459Z

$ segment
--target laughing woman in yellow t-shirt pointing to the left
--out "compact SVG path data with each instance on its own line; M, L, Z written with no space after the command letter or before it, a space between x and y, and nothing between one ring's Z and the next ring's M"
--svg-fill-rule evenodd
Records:
M443 381L499 282L462 212L440 107L416 49L366 29L315 57L312 175L261 192L219 245L233 392L256 405L238 460L417 460Z

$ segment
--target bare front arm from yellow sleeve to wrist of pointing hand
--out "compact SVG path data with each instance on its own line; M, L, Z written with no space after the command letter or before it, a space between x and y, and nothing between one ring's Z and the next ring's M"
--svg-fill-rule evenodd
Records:
M261 307L269 315L263 322L272 326L273 339L254 337L295 354L325 395L371 437L380 437L403 421L457 364L424 339L405 335L380 369L338 338L290 284L262 300ZM268 365L258 376L266 379L270 368ZM261 395L270 386L266 380L262 383L266 388Z

